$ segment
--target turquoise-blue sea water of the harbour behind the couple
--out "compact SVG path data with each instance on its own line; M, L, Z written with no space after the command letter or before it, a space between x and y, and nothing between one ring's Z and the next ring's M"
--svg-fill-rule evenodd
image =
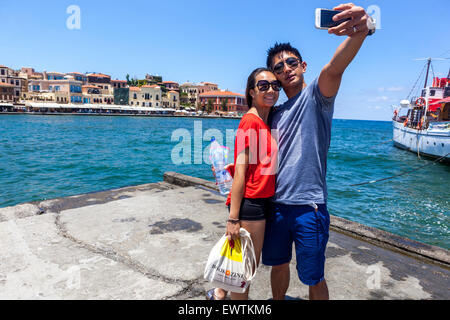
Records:
M233 154L238 125L234 119L0 115L0 207L158 182L166 171L214 181L211 136L222 132L219 142ZM450 166L419 159L390 139L390 122L333 120L330 214L450 249Z

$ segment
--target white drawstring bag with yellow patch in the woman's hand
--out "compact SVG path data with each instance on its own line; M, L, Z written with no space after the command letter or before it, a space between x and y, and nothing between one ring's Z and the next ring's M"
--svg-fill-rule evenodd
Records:
M224 235L209 253L204 278L215 287L244 293L256 274L256 256L250 233L241 228L231 248Z

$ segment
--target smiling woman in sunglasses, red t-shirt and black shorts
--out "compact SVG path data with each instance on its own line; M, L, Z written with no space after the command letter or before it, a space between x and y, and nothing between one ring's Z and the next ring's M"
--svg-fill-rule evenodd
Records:
M280 90L281 84L270 69L258 68L248 77L245 95L249 111L242 117L236 134L234 180L226 202L228 240L238 238L240 228L246 229L253 241L257 265L277 169L278 148L267 120ZM207 298L222 300L226 294L225 290L215 288L207 292ZM232 292L231 299L248 299L248 289L245 293Z

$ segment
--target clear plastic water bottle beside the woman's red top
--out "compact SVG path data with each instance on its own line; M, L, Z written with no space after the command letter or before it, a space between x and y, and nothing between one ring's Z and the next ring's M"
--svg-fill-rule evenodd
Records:
M228 170L225 169L228 159L228 148L221 146L216 139L211 139L209 149L209 158L216 173L216 183L219 186L220 193L227 195L230 193L233 178Z

